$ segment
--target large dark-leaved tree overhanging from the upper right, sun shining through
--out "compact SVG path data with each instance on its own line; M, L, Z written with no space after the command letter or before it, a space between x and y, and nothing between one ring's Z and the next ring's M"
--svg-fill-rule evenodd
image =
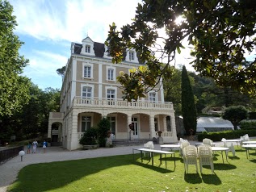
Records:
M178 17L182 18L180 23ZM170 63L185 41L193 48L191 65L195 71L212 77L220 86L256 95L255 56L251 55L251 62L246 60L256 44L255 20L256 1L142 1L131 24L120 31L115 23L110 26L105 43L113 62L122 61L126 48L135 48L140 61L146 63L129 75L120 73L124 98L145 97L159 77L170 77Z

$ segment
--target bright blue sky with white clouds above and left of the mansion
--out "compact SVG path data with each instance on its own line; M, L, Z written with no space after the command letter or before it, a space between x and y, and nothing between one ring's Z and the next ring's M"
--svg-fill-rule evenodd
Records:
M66 65L71 42L81 44L87 35L104 43L109 25L132 22L141 0L9 0L18 26L15 35L23 41L19 54L29 59L23 75L40 89L61 89L56 70ZM189 56L185 52L185 55ZM181 57L188 63L186 56Z

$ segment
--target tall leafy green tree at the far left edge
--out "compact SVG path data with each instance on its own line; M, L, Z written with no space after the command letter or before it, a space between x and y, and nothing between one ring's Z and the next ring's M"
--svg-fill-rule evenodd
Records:
M0 118L19 111L29 99L29 80L21 77L28 61L19 56L23 42L13 32L17 23L12 13L10 3L0 0Z

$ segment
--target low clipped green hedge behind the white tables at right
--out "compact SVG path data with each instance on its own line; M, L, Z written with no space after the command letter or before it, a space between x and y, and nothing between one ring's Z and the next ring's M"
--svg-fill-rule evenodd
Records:
M220 132L206 132L198 135L198 140L203 141L204 138L208 138L213 141L221 141L222 138L225 138L227 140L233 140L240 138L240 136L245 136L248 134L248 136L256 136L256 129L250 129L250 130L236 130L236 131L220 131Z

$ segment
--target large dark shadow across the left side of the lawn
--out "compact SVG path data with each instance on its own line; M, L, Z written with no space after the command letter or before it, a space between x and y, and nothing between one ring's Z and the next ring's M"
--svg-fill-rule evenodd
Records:
M131 155L123 155L27 165L19 171L19 179L14 182L12 188L8 191L39 192L57 190L104 169L132 165L133 163ZM170 170L160 169L152 165L145 165L145 167L162 171L162 173L170 173Z

